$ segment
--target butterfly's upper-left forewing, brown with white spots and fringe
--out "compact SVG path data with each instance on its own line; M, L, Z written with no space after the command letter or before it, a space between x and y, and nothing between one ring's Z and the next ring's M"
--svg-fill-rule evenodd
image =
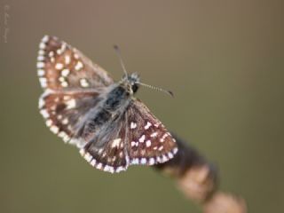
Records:
M97 88L114 83L103 68L55 36L44 36L39 48L37 74L43 88Z

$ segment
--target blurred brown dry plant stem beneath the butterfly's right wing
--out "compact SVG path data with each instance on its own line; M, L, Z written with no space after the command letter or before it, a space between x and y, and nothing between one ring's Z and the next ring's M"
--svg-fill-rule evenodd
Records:
M217 191L217 169L185 141L177 138L178 152L169 162L156 169L177 179L178 189L202 205L205 213L246 213L243 199Z

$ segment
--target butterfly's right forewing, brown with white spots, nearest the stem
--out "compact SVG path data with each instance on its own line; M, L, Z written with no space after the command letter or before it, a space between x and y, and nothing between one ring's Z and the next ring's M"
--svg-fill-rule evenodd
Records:
M133 100L127 112L130 164L169 161L177 153L175 138L139 100Z

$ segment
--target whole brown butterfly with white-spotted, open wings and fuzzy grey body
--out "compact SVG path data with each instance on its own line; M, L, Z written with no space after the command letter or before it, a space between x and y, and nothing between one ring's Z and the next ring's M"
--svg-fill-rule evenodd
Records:
M77 146L91 166L114 173L177 154L175 138L134 97L137 74L126 73L114 83L102 67L55 36L43 36L36 67L46 126Z

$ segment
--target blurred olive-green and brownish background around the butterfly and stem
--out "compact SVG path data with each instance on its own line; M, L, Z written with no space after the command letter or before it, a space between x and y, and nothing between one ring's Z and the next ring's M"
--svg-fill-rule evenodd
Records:
M250 212L284 209L283 1L0 2L0 212L201 212L147 167L93 170L37 110L38 43L59 36L114 79L170 89L138 97L217 163Z

